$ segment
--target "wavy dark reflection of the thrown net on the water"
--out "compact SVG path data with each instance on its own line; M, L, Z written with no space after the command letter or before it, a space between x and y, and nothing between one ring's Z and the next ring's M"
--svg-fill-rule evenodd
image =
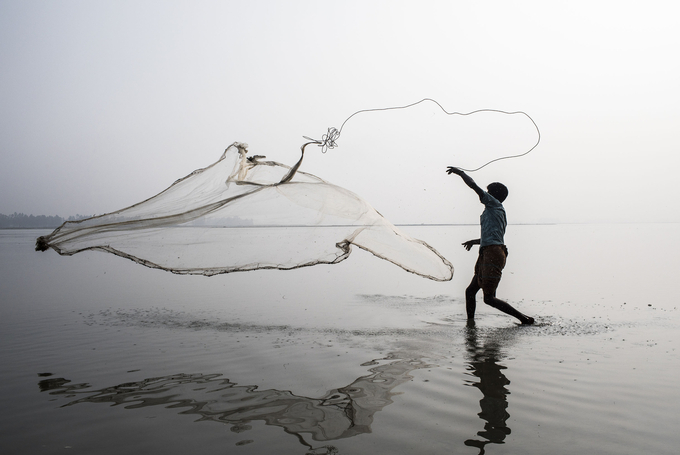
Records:
M44 379L38 386L42 392L65 395L71 400L62 407L113 403L125 409L178 408L182 414L198 415L201 421L231 424L234 432L261 420L283 427L309 446L303 434L311 435L315 441L330 441L370 433L374 415L392 404L392 390L412 380L412 371L427 367L420 359L394 359L392 354L380 360L392 361L370 368L371 374L331 389L321 398L287 390L259 390L257 386L238 385L219 374L176 374L100 390L92 390L88 384L69 384L71 381L64 378Z

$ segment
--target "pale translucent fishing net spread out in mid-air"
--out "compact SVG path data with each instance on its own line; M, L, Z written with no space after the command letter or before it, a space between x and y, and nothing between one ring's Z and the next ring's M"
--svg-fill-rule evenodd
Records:
M356 194L229 146L213 165L131 207L68 221L37 250L100 250L179 274L294 269L346 259L350 245L437 281L453 267ZM304 154L304 148L303 148ZM302 160L302 159L301 159ZM296 172L297 171L297 172Z

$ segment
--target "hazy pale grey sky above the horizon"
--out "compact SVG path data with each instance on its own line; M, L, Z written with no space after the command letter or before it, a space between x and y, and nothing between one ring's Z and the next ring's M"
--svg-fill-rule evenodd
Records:
M101 214L232 142L293 164L359 109L525 111L471 174L510 222L680 221L673 2L0 0L0 213ZM361 114L302 170L395 223L474 223L447 165L518 116Z

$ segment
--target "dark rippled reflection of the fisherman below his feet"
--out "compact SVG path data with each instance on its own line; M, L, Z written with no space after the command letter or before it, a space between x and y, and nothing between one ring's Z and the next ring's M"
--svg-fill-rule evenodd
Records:
M484 395L479 400L482 412L478 415L486 421L484 430L477 432L484 440L468 439L465 445L477 447L481 455L487 444L503 444L505 437L510 434L510 428L505 423L510 417L506 397L510 392L505 386L510 384L510 381L502 373L506 367L498 364L501 359L498 340L492 337L480 346L474 323L468 324L465 335L468 374L479 378L478 382L469 381L467 385L477 387Z

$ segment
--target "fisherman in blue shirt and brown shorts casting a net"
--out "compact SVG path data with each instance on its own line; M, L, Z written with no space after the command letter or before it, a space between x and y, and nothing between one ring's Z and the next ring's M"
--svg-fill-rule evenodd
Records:
M479 257L475 264L475 276L472 277L470 285L465 290L465 308L467 310L468 322L474 323L477 292L481 289L484 293L484 303L516 317L522 324L533 324L534 318L520 313L507 302L496 298L496 288L498 288L498 283L501 281L501 274L503 267L505 267L505 258L508 256L508 249L503 243L503 236L505 235L505 228L508 222L502 204L505 198L508 197L508 189L502 183L494 182L486 187L487 191L484 191L461 169L449 166L446 172L449 175L459 175L465 184L477 193L479 201L484 204L484 212L480 217L482 237L463 243L463 246L468 251L470 251L472 245L479 245Z

